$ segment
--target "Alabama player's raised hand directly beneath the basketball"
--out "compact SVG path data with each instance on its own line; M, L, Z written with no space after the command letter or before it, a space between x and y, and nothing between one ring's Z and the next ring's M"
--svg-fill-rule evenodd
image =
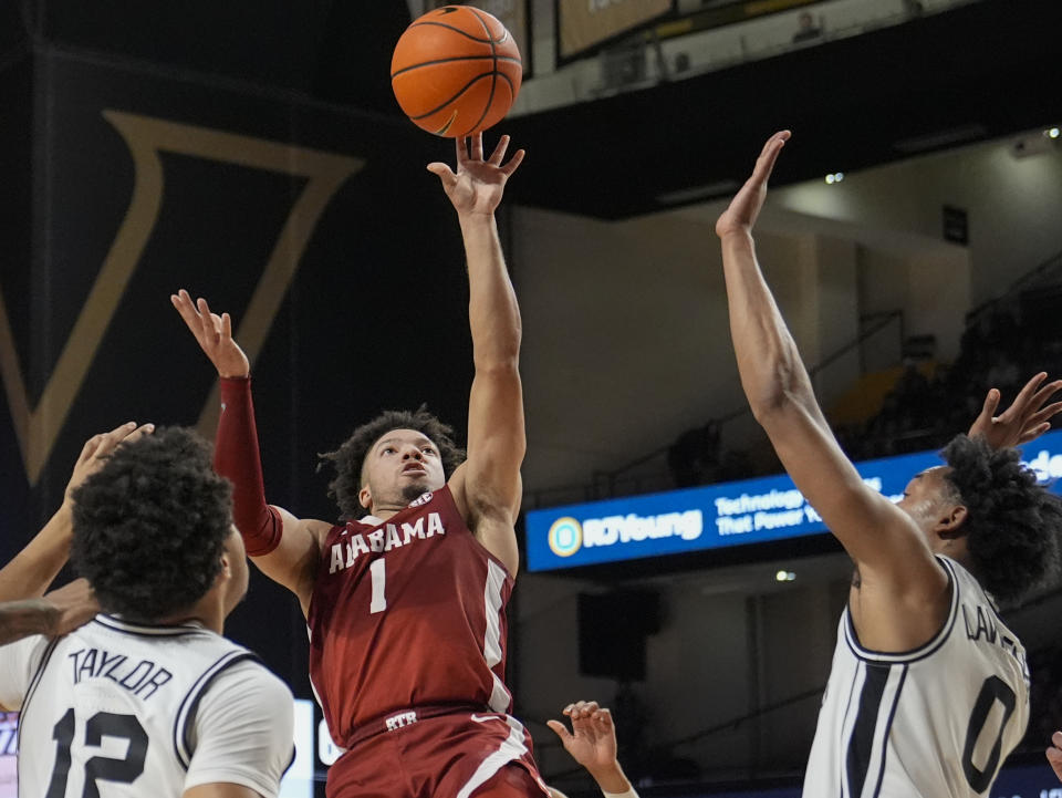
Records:
M523 160L524 151L518 149L509 163L502 164L506 151L509 148L509 136L502 136L494 152L483 159L483 134L477 133L469 142L464 138L457 142L457 172L447 164L435 162L428 164L428 172L438 175L442 182L442 190L450 198L454 208L459 215L490 215L494 213L501 196L504 194L506 182L517 170ZM471 153L468 145L471 144Z

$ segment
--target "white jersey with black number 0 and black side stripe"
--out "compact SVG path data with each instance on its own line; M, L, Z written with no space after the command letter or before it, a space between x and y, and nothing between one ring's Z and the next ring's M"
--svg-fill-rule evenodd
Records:
M804 798L987 795L1029 722L1025 650L959 563L940 632L906 654L862 647L848 610L804 777Z

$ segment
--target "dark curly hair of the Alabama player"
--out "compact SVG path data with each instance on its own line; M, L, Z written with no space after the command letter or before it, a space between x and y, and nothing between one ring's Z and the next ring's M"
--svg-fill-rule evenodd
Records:
M326 462L335 466L335 478L329 483L329 496L335 498L344 521L356 520L368 514L368 509L362 507L357 498L364 485L362 476L365 458L373 445L392 429L415 429L431 441L439 449L439 459L447 479L454 474L454 469L465 462L465 449L454 443L454 427L428 413L427 405L420 405L413 413L384 411L371 422L357 427L335 452L319 455L322 466Z

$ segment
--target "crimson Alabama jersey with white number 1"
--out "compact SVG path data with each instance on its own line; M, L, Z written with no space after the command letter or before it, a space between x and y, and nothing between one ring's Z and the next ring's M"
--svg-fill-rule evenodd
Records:
M335 743L416 707L508 712L512 578L468 529L449 486L387 521L333 527L306 623L310 678Z

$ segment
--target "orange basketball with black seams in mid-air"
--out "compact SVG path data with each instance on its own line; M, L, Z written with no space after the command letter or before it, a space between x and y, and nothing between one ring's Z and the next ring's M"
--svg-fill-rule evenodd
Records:
M470 6L419 17L395 45L391 85L409 120L437 136L485 131L509 113L523 64L498 19Z

